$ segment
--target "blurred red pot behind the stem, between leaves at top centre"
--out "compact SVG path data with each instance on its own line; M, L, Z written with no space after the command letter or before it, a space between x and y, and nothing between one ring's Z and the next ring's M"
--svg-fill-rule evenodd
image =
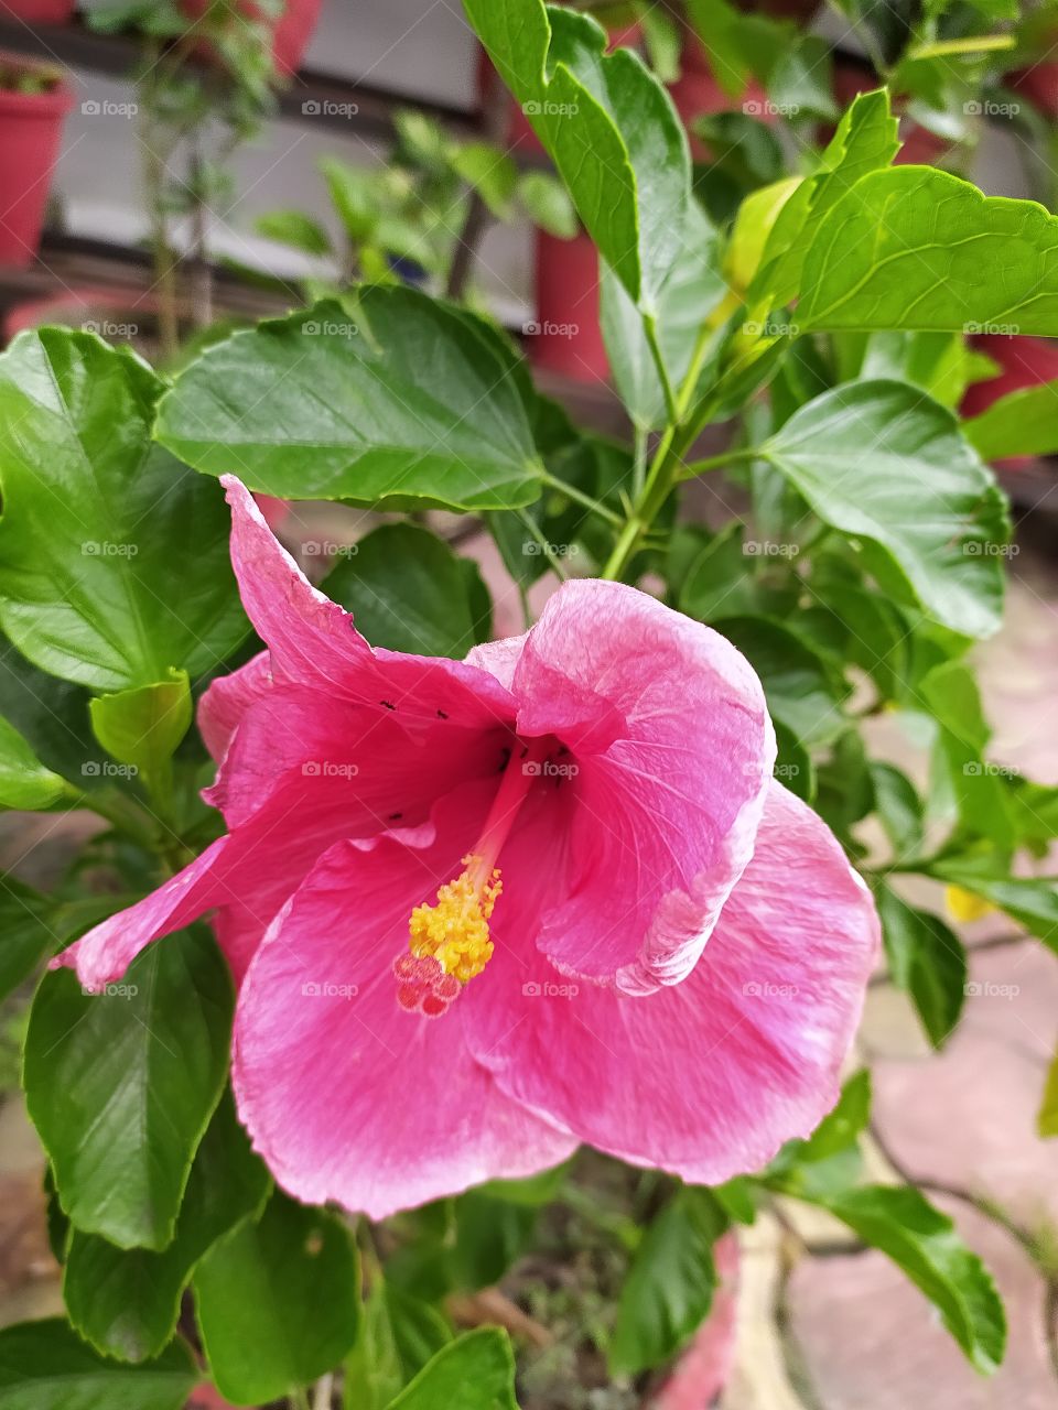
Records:
M577 382L609 376L598 309L598 251L581 231L574 240L536 233L536 320L526 327L533 367Z

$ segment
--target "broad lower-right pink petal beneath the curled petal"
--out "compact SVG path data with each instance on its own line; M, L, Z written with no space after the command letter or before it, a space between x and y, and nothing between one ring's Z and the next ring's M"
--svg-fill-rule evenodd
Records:
M512 911L537 883L505 870ZM515 1100L602 1151L717 1184L834 1105L877 952L870 895L829 829L772 784L758 846L705 952L645 997L494 955L466 995L473 1050Z

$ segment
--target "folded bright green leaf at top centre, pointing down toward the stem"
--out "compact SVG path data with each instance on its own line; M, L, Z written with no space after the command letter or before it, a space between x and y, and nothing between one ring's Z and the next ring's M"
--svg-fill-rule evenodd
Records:
M687 137L636 55L605 55L591 18L543 0L464 0L499 76L522 104L577 212L645 313L684 241Z

